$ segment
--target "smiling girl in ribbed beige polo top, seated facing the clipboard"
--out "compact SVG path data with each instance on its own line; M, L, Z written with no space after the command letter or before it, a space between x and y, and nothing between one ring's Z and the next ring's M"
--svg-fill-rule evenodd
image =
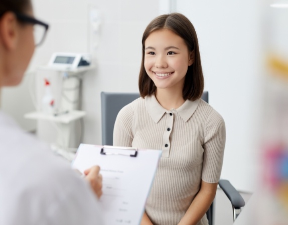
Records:
M200 98L203 88L192 23L180 13L158 16L142 37L141 97L120 110L113 136L114 145L163 150L141 224L208 224L225 124Z

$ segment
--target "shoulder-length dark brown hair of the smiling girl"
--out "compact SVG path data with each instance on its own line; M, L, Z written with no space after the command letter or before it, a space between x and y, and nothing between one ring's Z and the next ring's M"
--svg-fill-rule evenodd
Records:
M196 100L201 97L204 89L204 77L201 66L198 38L193 24L181 13L164 14L153 19L146 27L142 36L142 62L139 73L139 92L141 97L150 96L155 93L156 86L153 80L147 74L144 67L145 59L145 41L147 37L156 30L170 29L187 44L189 51L194 51L194 62L188 66L183 86L183 98Z

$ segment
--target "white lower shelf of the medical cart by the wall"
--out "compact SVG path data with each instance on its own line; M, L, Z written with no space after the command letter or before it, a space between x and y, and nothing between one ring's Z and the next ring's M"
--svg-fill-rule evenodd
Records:
M67 123L70 123L71 121L82 118L85 115L86 115L86 112L80 111L80 110L71 110L65 114L61 114L57 116L53 114L47 114L41 111L34 111L34 112L26 113L24 117L28 119L43 119L43 120L49 120L49 121L67 124Z

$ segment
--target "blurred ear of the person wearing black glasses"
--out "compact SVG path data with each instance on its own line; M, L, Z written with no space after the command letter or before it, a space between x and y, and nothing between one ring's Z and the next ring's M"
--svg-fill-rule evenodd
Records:
M0 19L0 41L10 50L14 49L18 38L18 21L13 12L6 12Z

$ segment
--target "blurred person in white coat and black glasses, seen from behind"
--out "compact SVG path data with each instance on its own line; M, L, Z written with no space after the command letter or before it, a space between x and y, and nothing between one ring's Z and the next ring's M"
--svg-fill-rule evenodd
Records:
M39 39L35 26L42 28ZM0 87L21 82L47 28L34 18L30 0L0 1ZM85 171L84 181L1 110L0 155L0 224L103 224L98 166Z

